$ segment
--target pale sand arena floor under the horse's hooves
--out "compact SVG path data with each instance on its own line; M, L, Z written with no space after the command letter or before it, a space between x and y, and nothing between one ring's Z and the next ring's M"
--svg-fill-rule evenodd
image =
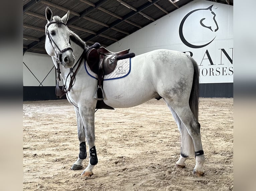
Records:
M81 178L83 169L70 169L79 154L74 106L67 100L23 102L23 190L233 190L233 98L200 98L199 122L206 172L196 178L195 157L184 169L174 167L180 135L163 100L98 110L99 163L91 178Z

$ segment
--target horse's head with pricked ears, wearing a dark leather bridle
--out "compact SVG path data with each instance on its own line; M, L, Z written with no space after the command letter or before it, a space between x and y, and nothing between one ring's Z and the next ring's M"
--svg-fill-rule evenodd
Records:
M45 9L47 24L45 25L45 50L54 57L64 68L71 68L75 63L73 49L70 45L71 31L66 26L69 11L62 18L52 17L49 7Z

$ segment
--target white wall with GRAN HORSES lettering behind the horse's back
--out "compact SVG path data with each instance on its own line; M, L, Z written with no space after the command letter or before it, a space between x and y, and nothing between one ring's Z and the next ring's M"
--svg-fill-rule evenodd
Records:
M198 10L191 13L184 22L184 38L193 45L204 45L202 48L190 48L180 39L179 26L189 12L196 9L212 7L216 14L217 28L210 10ZM213 31L203 27L212 26ZM143 27L135 33L107 47L110 51L130 48L136 55L155 49L170 49L193 53L193 58L200 68L200 83L233 83L233 64L224 53L233 60L233 6L221 3L195 0L169 13L155 22Z

